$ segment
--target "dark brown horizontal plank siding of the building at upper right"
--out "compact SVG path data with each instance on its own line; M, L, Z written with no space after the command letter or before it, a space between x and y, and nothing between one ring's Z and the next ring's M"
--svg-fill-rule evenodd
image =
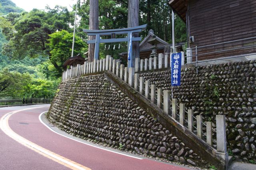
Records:
M188 2L189 36L194 36L195 40L190 47L256 37L256 0L190 0ZM256 38L201 48L198 49L198 54L248 45L256 45ZM252 52L256 52L256 47L199 55L198 58L209 59Z

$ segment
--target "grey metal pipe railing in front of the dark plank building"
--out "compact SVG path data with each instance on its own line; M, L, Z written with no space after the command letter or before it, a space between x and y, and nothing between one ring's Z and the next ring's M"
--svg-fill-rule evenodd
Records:
M203 63L203 62L208 62L208 61L216 61L216 60L222 60L222 59L230 59L230 58L236 58L236 57L244 57L244 56L248 56L248 55L256 55L256 53L247 53L247 54L242 54L242 55L233 55L233 56L218 57L218 58L216 57L214 59L206 59L206 60L198 61L198 56L200 56L200 55L208 55L208 54L220 53L220 52L225 52L225 51L232 51L232 50L237 50L237 49L245 49L245 48L250 48L250 47L256 47L256 45L247 45L247 46L243 46L243 47L222 49L222 50L212 51L212 52L207 52L207 53L198 53L198 49L200 49L200 48L213 47L215 45L222 45L222 44L240 42L240 41L245 41L245 40L253 40L253 39L255 39L255 42L256 42L256 37L250 37L250 38L244 38L244 39L239 39L239 40L234 40L234 41L214 43L214 44L210 44L210 45L203 45L203 46L196 46L196 47L193 47L193 48L188 48L187 51L190 50L191 55L187 55L186 58L191 57L191 61L192 61L192 57L195 57L195 61L190 62L190 63L186 63L186 64L194 64L195 63L196 64L196 73L198 73L198 63ZM192 55L192 49L195 50L196 54Z

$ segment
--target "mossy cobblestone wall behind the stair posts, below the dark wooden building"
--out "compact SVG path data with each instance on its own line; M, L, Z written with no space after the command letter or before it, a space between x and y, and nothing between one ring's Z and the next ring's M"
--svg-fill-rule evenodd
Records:
M173 88L178 103L186 103L204 121L226 115L229 154L256 161L256 61L243 61L182 69L181 86ZM170 69L141 72L157 88L171 89Z

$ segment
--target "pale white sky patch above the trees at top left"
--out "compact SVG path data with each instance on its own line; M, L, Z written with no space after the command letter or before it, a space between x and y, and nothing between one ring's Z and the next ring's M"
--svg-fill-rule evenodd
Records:
M12 0L16 6L24 9L25 11L31 11L33 8L44 10L46 5L50 8L54 8L56 5L66 6L69 11L72 10L70 6L76 3L76 0Z

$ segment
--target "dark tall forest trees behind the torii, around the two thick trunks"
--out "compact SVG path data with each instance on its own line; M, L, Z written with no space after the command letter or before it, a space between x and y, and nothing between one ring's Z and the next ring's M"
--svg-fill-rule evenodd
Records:
M78 35L88 39L82 32L82 28L89 29L89 1L78 1L78 15L81 17L78 27ZM168 5L168 0L140 0L139 4L139 24L148 24L147 30L140 33L145 38L150 29L168 43L172 42L172 10ZM99 0L99 28L116 29L127 27L128 0ZM109 36L103 38L110 38ZM117 35L116 38L122 38ZM186 41L186 24L175 16L175 41ZM114 44L116 48L113 49ZM120 49L117 48L119 43L108 43L100 45L100 57L112 55L118 58L118 53L127 51L126 43L121 43ZM105 49L106 45L106 49ZM110 45L110 50L108 50Z

